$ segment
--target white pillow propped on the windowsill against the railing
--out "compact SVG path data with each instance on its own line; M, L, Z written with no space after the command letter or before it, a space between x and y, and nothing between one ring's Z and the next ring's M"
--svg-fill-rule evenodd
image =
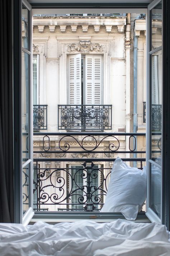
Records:
M121 212L127 220L135 220L147 194L146 172L129 167L117 157L113 164L108 193L100 212Z

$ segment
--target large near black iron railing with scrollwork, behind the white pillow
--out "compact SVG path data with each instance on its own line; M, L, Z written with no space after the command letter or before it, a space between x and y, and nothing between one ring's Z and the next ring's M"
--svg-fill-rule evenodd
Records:
M144 139L145 133L34 135L39 141L34 141L35 211L99 211L105 202L115 158L137 162L140 169L145 162L146 152L137 150L137 138ZM127 151L122 150L125 141L129 144Z

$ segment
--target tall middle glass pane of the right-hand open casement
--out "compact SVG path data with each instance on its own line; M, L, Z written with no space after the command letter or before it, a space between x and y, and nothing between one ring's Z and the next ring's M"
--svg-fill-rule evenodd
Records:
M151 158L161 164L162 51L151 55Z

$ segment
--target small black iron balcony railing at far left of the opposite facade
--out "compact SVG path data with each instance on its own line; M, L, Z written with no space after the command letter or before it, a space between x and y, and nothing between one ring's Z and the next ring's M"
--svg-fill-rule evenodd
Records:
M33 105L33 129L47 130L47 105Z

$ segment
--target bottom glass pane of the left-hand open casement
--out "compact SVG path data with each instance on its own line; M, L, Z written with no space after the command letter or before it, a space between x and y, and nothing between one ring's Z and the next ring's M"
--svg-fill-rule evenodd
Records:
M23 215L29 208L29 164L23 168L22 184L23 184Z

